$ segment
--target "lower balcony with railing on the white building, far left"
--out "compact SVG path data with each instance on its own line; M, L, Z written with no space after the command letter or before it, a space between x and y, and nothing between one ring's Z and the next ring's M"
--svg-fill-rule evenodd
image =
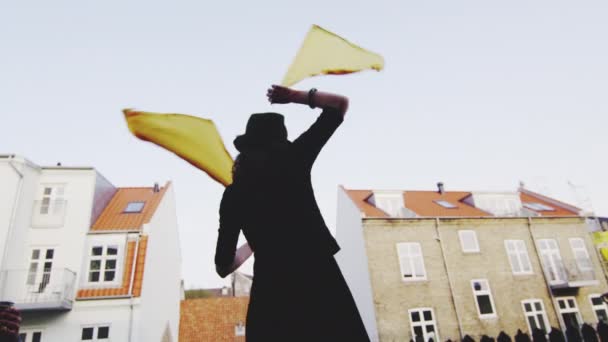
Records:
M28 270L0 272L0 300L11 301L21 311L71 310L76 273L67 268L32 273Z

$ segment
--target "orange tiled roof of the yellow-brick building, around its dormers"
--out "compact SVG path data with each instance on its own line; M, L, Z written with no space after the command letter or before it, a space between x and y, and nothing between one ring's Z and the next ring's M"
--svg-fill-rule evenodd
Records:
M364 217L389 217L380 208L370 203L373 190L351 190L342 187L353 203L359 208ZM465 199L472 195L467 191L401 191L403 194L403 204L405 208L412 211L418 217L485 217L493 216L484 210L465 203ZM515 193L515 192L514 192ZM538 213L540 216L577 216L580 209L534 193L526 189L519 189L519 196L526 203L540 203L554 208L553 211L547 210L528 210ZM446 201L454 205L455 208L446 208L437 201Z

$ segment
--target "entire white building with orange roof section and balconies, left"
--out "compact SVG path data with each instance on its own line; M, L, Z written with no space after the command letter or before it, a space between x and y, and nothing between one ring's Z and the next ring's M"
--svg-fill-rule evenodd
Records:
M180 270L171 183L0 155L0 300L24 341L177 341Z

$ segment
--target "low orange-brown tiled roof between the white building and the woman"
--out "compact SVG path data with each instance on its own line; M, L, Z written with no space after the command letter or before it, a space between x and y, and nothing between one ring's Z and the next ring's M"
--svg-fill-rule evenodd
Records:
M236 336L235 327L246 323L249 297L213 297L188 299L181 302L179 340L245 341Z

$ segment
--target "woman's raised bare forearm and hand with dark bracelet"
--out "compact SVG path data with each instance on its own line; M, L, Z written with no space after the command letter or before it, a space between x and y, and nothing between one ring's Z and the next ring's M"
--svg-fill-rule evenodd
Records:
M346 96L317 91L314 88L304 91L273 85L268 89L266 96L270 103L298 103L309 105L312 108L335 109L342 117L348 110Z

